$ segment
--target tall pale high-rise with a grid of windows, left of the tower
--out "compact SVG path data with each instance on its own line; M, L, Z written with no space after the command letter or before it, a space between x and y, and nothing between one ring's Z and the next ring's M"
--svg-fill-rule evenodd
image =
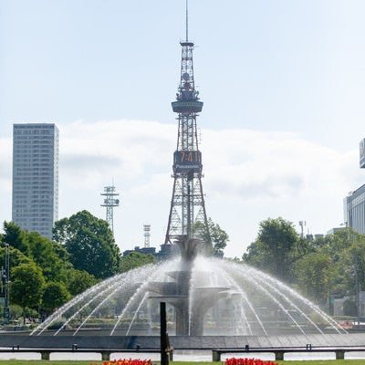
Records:
M14 124L12 219L22 229L52 238L53 224L58 219L55 124Z

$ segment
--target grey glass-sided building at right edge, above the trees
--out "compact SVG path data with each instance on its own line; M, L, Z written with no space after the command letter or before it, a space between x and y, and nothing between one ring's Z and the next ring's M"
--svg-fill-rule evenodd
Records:
M360 234L365 234L365 185L344 199L345 222Z

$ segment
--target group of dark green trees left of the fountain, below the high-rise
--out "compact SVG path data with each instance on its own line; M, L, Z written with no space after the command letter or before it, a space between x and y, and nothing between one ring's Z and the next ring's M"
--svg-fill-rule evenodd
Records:
M88 211L57 221L53 240L13 222L4 223L0 238L9 250L10 318L47 316L105 278L155 262L153 255L121 256L108 222ZM7 247L0 248L1 263ZM2 274L4 296L4 266Z

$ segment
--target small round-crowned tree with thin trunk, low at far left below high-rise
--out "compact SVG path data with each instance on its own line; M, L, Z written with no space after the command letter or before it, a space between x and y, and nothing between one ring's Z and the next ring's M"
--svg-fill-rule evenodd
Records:
M26 307L32 308L40 304L45 287L45 278L42 269L34 263L14 267L12 276L10 297L13 304L23 308L24 317Z

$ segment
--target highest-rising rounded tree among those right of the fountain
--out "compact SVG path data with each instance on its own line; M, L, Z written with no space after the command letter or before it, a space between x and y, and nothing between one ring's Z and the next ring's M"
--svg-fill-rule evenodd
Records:
M283 281L292 282L295 263L311 251L308 240L297 235L291 222L281 217L268 218L259 224L257 238L248 246L243 260Z

